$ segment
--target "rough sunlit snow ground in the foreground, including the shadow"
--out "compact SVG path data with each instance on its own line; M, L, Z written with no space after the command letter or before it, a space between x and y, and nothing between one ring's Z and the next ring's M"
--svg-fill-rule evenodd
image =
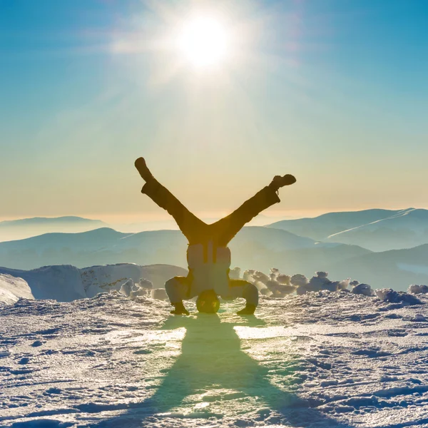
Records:
M0 308L1 427L428 427L427 295L173 317L119 292Z

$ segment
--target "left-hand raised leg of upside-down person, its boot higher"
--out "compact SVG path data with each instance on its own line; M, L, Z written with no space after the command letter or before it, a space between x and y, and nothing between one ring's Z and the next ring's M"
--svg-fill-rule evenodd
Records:
M146 184L143 185L141 193L148 195L153 202L164 210L167 210L168 213L173 216L181 232L183 232L183 235L185 235L190 244L199 243L200 237L205 230L207 230L208 225L203 223L203 221L197 218L193 213L190 213L167 188L153 177L143 158L138 158L136 160L136 168L141 177L146 180Z

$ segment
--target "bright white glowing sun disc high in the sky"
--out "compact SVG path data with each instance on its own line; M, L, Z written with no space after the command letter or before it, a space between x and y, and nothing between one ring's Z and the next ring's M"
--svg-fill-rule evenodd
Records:
M217 19L198 16L183 25L178 36L178 49L197 68L216 66L228 53L228 34Z

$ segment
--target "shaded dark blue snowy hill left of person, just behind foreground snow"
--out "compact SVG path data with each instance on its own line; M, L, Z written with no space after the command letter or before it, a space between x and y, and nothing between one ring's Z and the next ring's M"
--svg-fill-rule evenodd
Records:
M121 285L130 279L138 282L141 278L145 278L153 283L153 287L163 287L170 277L187 275L187 270L170 265L139 266L132 263L82 269L71 265L44 266L34 270L0 267L0 287L1 277L4 275L15 279L22 278L31 289L30 294L32 293L36 299L71 302L93 297L98 292L120 290ZM22 294L20 296L29 298ZM6 302L6 299L4 301Z

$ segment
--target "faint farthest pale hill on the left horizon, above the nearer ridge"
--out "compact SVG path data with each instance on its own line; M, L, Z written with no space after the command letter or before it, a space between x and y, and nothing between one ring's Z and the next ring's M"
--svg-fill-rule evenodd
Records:
M0 222L0 242L29 238L42 233L52 232L85 232L105 226L101 220L91 220L75 216L34 217Z

